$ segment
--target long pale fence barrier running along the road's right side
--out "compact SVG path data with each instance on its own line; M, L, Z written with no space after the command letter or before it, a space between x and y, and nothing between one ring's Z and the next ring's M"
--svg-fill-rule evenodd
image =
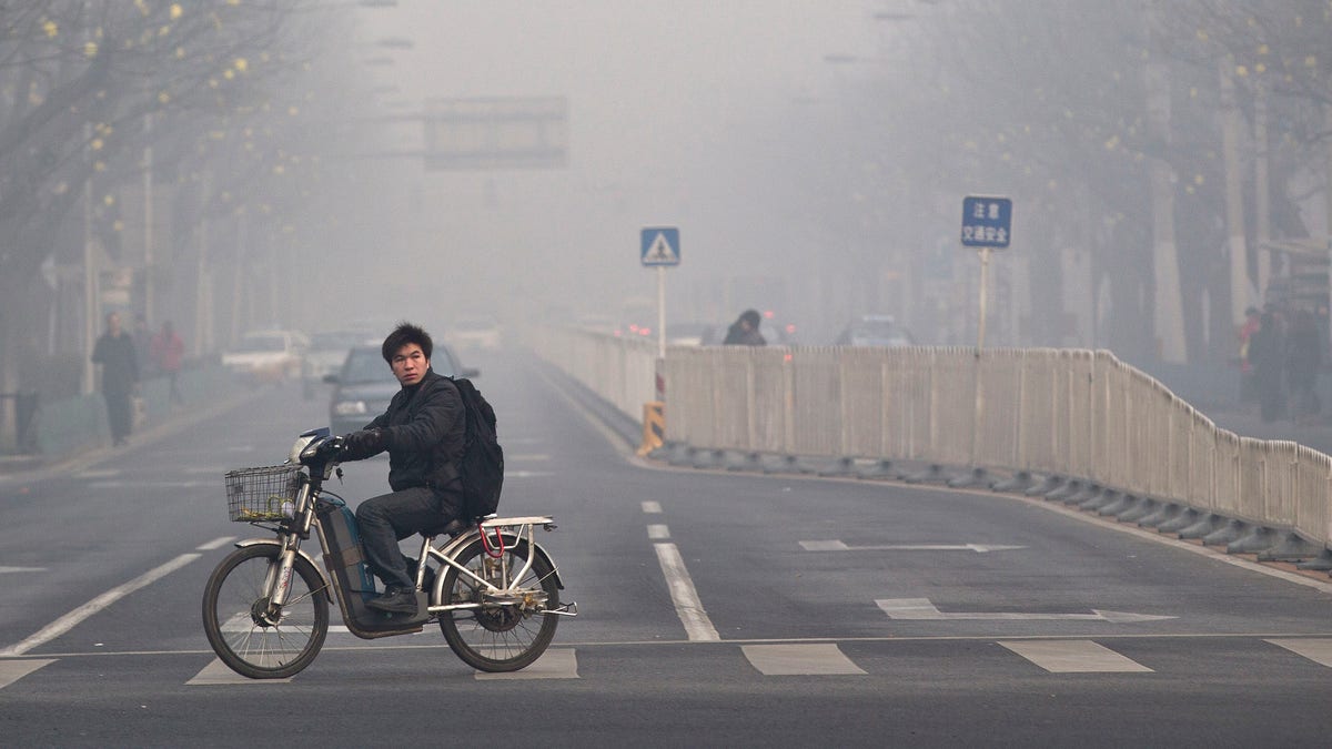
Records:
M655 349L553 331L538 353L641 418ZM1106 351L671 348L666 440L1094 481L1328 545L1332 457L1219 429Z

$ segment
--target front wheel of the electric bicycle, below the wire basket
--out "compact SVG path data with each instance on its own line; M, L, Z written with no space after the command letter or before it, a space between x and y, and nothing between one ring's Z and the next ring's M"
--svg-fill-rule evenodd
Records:
M230 553L204 589L204 633L232 670L249 678L286 678L310 665L329 630L324 578L297 556L281 609L269 605L278 546L264 544Z

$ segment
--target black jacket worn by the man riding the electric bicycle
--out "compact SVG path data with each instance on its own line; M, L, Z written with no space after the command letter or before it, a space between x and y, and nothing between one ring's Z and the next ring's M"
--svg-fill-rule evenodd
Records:
M380 448L345 460L362 460L389 450L389 486L394 492L430 486L436 493L461 492L458 461L466 440L466 414L458 388L434 369L418 385L402 388L389 409L365 426L382 434Z

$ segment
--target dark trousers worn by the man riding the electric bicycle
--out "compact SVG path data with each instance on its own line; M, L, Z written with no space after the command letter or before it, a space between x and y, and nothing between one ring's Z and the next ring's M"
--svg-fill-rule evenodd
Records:
M428 528L445 525L457 516L460 502L426 486L380 494L356 508L361 548L370 572L388 588L410 590L416 580L408 576L408 558L398 541Z

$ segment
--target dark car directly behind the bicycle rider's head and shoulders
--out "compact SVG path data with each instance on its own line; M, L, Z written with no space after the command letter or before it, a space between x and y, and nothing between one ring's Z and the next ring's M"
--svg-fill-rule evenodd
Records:
M480 377L481 372L462 367L458 355L444 344L434 344L430 369L445 377ZM393 369L384 361L381 347L358 345L346 353L346 361L337 374L325 377L333 382L329 401L329 425L334 434L356 432L389 408L393 394L402 389Z

